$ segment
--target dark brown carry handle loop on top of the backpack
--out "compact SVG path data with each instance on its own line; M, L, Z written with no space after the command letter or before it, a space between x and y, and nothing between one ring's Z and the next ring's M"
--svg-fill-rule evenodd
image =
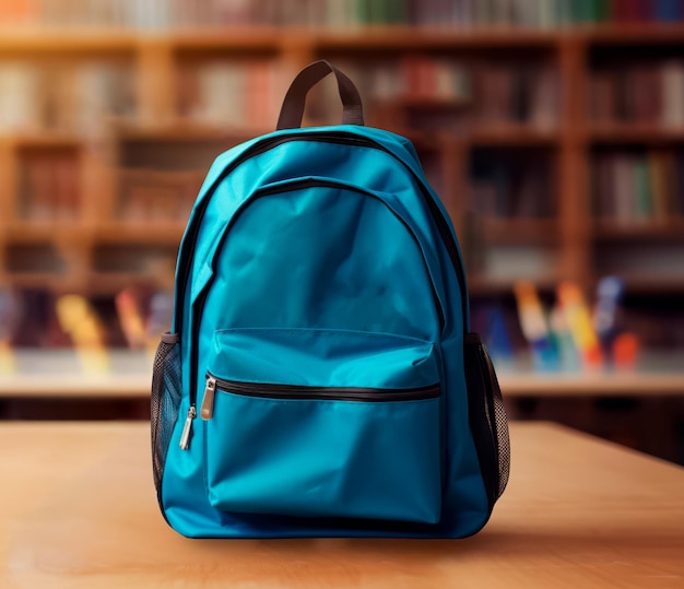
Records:
M342 99L342 125L364 123L361 94L358 94L354 82L328 61L320 60L304 68L292 82L287 94L285 94L280 117L278 117L276 129L279 131L302 127L307 93L329 73L334 73L338 80L338 90Z

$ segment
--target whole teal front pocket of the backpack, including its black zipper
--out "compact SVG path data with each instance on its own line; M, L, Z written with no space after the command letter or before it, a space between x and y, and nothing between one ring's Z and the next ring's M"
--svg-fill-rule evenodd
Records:
M216 509L439 520L432 343L353 331L220 331L207 384L200 415Z

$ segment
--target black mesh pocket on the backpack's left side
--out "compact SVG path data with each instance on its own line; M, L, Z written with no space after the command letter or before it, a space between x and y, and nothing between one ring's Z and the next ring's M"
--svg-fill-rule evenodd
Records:
M172 433L178 419L181 394L180 344L177 333L164 333L152 370L151 426L152 469L162 507L162 476Z

